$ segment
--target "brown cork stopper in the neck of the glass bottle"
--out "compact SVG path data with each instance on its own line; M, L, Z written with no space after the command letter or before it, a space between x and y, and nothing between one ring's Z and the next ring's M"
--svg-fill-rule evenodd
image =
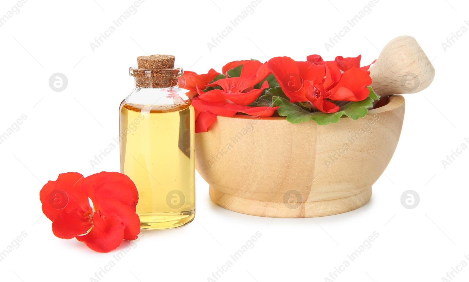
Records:
M137 68L130 68L135 86L141 88L173 87L182 76L182 68L174 67L173 55L150 55L137 57Z

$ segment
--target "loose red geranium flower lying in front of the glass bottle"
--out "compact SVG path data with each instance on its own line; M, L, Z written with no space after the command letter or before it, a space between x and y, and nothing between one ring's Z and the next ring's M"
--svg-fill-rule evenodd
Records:
M140 232L135 213L138 192L121 173L100 172L84 178L76 172L63 173L42 187L39 198L55 236L75 237L97 252L110 252L122 239L135 240Z

